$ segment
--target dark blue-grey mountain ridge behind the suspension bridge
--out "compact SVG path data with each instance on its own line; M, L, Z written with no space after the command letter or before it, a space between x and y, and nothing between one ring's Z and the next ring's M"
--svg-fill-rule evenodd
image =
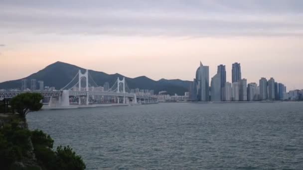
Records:
M86 69L63 62L56 62L23 79L28 80L27 87L30 87L31 79L36 79L37 81L44 81L44 85L54 86L56 89L60 89L67 85L77 75L79 70L84 73ZM158 93L158 91L167 91L171 95L174 95L175 93L184 95L184 92L188 91L190 85L190 81L182 81L179 79L161 79L159 81L154 81L146 76L132 79L118 73L109 75L104 72L93 70L89 70L89 74L97 85L103 86L105 82L109 82L110 86L112 86L118 77L120 77L120 79L125 77L130 88L153 89L155 93ZM0 83L0 89L20 88L21 80L22 79ZM89 79L89 83L90 82L92 82L91 79Z

